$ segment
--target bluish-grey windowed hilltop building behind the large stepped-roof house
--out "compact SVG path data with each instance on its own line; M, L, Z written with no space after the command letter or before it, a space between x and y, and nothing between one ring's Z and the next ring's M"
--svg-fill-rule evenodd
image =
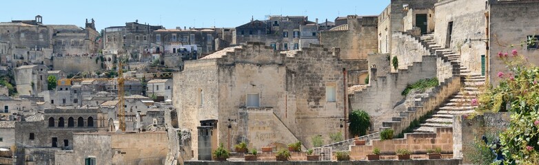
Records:
M303 28L301 28L302 25ZM302 32L302 29L305 31ZM264 21L251 20L249 23L236 27L235 44L261 42L274 47L274 50L299 50L309 47L311 43L318 44L318 35L317 24L309 21L308 17L272 16ZM300 46L301 43L303 45Z

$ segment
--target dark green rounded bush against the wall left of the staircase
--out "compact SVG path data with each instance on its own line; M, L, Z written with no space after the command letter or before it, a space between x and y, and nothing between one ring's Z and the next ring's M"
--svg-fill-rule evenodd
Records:
M369 114L362 110L354 110L350 114L350 135L366 135L367 129L371 126Z

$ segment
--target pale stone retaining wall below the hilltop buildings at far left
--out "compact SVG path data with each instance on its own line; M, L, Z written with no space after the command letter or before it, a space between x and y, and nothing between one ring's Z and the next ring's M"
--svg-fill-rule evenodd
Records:
M54 70L62 70L65 73L94 72L101 69L101 62L95 62L94 57L88 56L54 56L52 66Z

